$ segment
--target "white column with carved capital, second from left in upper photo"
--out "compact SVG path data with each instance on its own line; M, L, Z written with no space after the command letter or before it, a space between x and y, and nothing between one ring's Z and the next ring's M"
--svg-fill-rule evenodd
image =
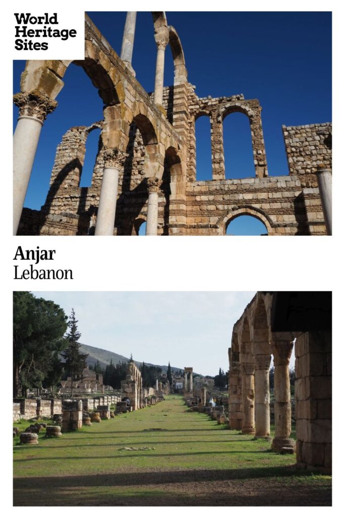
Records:
M95 236L112 236L114 233L118 174L126 155L118 150L104 151L105 167L97 212Z

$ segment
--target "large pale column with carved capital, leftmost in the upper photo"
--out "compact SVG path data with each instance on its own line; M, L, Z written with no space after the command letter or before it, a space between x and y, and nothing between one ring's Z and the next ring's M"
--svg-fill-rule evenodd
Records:
M13 102L19 106L20 115L13 135L13 234L16 235L41 127L57 102L38 90L16 94Z

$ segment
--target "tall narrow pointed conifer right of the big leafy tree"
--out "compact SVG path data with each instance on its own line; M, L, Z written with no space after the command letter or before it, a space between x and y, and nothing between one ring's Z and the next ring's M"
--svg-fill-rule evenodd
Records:
M80 343L78 340L81 333L78 331L78 320L76 320L76 313L72 308L71 315L68 321L69 333L67 334L68 347L63 352L65 358L65 367L71 377L71 396L73 397L73 382L82 377L83 370L86 368L86 358L88 354L79 352Z

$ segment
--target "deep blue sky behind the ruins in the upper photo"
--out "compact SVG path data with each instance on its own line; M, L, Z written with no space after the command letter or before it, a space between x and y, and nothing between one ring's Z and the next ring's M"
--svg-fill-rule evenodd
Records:
M89 12L117 53L121 51L124 12ZM167 12L181 38L188 79L199 97L243 93L258 98L269 175L288 174L281 126L332 120L332 17L330 12ZM147 91L154 88L156 46L151 13L139 12L132 65ZM23 61L14 62L13 90L20 89ZM71 65L58 95L58 107L44 123L25 206L39 209L49 188L55 149L74 125L102 118L102 101L80 67ZM167 49L164 85L173 84ZM18 108L14 107L14 126ZM197 179L211 179L207 118L197 121ZM91 181L98 134L87 141L82 186ZM249 122L243 114L224 121L227 178L253 176ZM239 220L239 219L238 219ZM235 220L236 221L236 220ZM233 225L233 224L232 224ZM258 229L258 233L262 229ZM229 228L231 234L236 231Z

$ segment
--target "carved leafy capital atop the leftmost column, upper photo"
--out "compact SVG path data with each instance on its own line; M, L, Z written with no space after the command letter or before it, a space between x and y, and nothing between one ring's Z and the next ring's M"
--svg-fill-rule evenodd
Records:
M39 90L13 95L13 103L19 107L20 117L34 117L43 122L48 113L55 110L57 101Z

